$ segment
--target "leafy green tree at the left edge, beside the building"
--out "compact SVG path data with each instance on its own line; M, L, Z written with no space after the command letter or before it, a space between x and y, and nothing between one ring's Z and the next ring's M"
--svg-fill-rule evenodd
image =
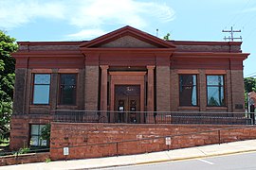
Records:
M15 59L11 58L11 53L17 49L15 39L0 31L0 139L9 137L15 78Z

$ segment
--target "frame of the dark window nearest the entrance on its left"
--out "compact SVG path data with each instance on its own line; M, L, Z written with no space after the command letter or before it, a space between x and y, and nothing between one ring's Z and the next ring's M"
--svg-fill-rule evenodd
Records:
M63 84L62 84L62 76L63 75L74 75L75 76L75 85L73 85L73 86L75 86L75 87L73 87L74 88L74 93L73 93L73 99L74 99L74 101L72 102L72 104L64 104L64 102L63 102L63 99L62 99L62 94L63 94L63 91L62 91L62 88L63 88ZM61 74L59 74L59 90L58 90L58 104L59 105L64 105L64 106L76 106L77 105L77 93L78 93L78 91L77 91L77 85L78 85L78 74L73 74L73 73L61 73ZM70 85L66 85L66 86L70 86Z

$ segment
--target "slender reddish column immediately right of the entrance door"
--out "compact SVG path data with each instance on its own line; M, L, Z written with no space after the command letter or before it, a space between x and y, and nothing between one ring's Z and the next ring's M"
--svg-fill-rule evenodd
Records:
M154 111L154 69L155 65L148 65L148 97L147 111Z

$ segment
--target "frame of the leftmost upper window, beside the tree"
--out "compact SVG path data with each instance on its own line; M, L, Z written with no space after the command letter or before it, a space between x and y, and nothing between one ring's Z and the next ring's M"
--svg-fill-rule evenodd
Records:
M35 83L35 76L36 75L49 75L49 84L36 84ZM32 74L32 96L31 96L31 104L32 105L49 105L50 104L50 89L51 89L51 74L50 73L34 73ZM34 95L35 95L35 86L36 85L44 85L49 87L49 92L48 92L48 103L34 103Z

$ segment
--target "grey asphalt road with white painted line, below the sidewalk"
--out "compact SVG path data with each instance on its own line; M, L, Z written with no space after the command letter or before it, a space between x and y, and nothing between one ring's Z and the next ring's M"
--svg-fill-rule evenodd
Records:
M188 161L169 161L154 164L114 167L117 170L256 170L256 152L211 157Z

